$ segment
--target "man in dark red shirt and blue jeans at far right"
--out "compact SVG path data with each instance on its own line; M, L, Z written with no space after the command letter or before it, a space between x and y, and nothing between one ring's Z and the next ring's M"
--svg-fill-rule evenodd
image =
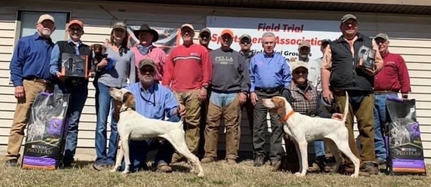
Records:
M408 98L410 77L406 63L399 54L390 53L389 37L385 33L376 35L374 39L379 45L379 52L383 58L383 69L374 76L374 146L379 165L386 163L386 148L383 139L383 128L386 119L386 99L398 97L401 92L403 99Z

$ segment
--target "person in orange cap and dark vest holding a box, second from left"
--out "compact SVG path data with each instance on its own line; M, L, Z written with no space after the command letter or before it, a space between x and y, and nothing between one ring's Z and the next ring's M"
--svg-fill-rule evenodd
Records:
M88 95L88 80L77 77L64 77L60 74L61 56L63 53L75 55L91 55L90 47L81 42L81 36L84 34L84 25L80 20L71 20L67 28L70 39L68 41L58 41L51 52L49 73L53 79L54 93L70 94L69 106L67 108L67 136L64 148L64 167L70 167L73 163L73 156L76 152L78 143L78 123L81 117L82 108ZM88 65L90 67L90 65Z

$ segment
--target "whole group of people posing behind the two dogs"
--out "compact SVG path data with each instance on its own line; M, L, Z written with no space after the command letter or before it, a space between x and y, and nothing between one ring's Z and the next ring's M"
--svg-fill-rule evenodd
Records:
M381 126L386 122L385 100L396 97L401 91L408 98L409 74L400 55L389 53L389 37L380 33L374 39L358 32L358 20L346 14L340 22L342 36L338 39L322 40L319 59L309 59L310 43L302 41L298 46L299 56L286 60L276 54L275 35L262 35L263 53L251 52L251 37L239 37L240 51L231 48L234 35L225 29L220 33L220 47L210 49L211 31L204 28L199 33L200 44L193 38L192 24L181 26L183 44L175 47L169 55L153 45L158 33L147 24L133 33L139 44L128 48L129 34L123 22L112 26L110 39L105 43L107 57L92 64L95 71L96 88L96 161L94 168L111 167L115 163L118 133L117 120L111 119L111 134L107 150L107 117L115 103L109 88L126 88L135 95L135 110L145 117L179 121L185 120L185 140L194 154L198 154L201 134L205 127L205 154L202 163L217 160L218 134L223 119L226 130L227 164L234 165L238 159L242 110L246 110L253 141L253 166L262 166L269 159L275 169L280 161L296 156L294 145L285 139L282 147L282 122L280 116L270 112L271 137L267 155L265 131L268 108L262 98L284 96L296 112L317 117L341 120L345 91L349 93L349 145L361 159L364 175L377 174L379 164L386 162L386 149ZM39 92L70 94L68 107L68 133L63 163L72 166L77 146L78 122L88 95L88 79L65 77L60 73L61 54L91 56L90 47L80 40L84 24L71 20L67 27L68 41L52 43L50 34L55 30L54 18L43 14L36 23L37 31L20 38L10 62L11 81L15 87L17 105L10 130L6 165L16 166L22 143L24 128L28 122L31 104ZM373 70L358 68L358 50L361 47L375 50ZM338 106L338 107L337 107ZM374 111L374 112L373 112ZM353 135L353 116L357 117L361 151ZM145 125L145 124L143 124ZM323 141L314 142L316 162L309 170L329 171L326 164L331 160ZM130 142L131 170L147 167L147 153L158 149L154 168L160 172L171 172L171 163L184 160L175 153L167 141L150 139ZM346 159L344 171L353 173L353 164Z

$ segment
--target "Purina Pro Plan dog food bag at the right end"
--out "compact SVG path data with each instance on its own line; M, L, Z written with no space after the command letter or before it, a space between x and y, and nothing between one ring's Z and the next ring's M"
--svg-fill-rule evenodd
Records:
M392 175L426 175L415 99L388 98L386 107L390 119L386 130L387 172Z

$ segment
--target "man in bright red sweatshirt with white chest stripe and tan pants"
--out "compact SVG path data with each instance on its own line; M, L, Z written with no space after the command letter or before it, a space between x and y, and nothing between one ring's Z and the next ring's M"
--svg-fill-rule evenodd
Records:
M180 104L186 106L186 143L195 155L200 139L201 103L207 99L213 66L208 50L193 43L195 35L192 24L181 26L183 45L174 48L168 56L162 85L170 87ZM179 162L182 156L175 153L172 162Z

